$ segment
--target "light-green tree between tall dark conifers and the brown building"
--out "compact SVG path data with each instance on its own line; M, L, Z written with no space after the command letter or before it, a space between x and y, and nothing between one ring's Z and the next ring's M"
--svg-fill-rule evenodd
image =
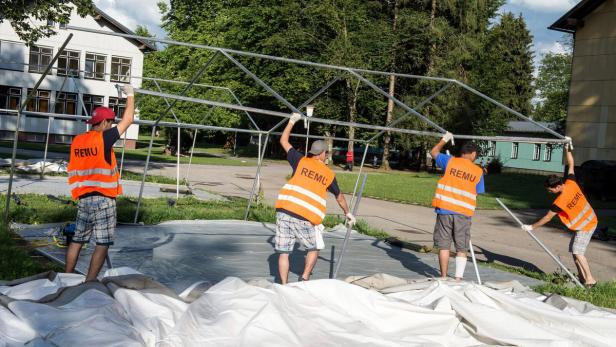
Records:
M540 101L533 116L542 121L564 121L567 118L571 83L571 52L547 53L539 65L535 81Z

